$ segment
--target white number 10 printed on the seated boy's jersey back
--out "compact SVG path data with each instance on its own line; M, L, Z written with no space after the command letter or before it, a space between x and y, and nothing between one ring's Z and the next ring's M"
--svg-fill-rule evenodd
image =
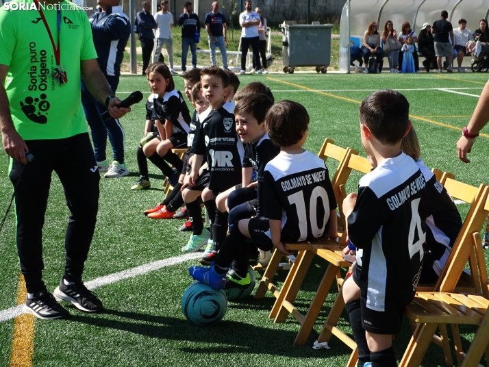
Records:
M323 219L323 226L321 228L318 227L317 223L317 207L316 203L318 202L318 197L321 197L324 205L325 217ZM299 230L301 231L301 238L299 238L299 242L308 238L308 219L311 224L312 236L315 238L320 237L324 230L329 219L329 209L327 207L328 197L325 188L322 186L316 186L314 190L311 192L310 202L309 202L309 215L306 214L305 210L305 201L304 201L304 192L303 190L296 192L295 194L288 196L288 202L290 205L295 204L297 210L297 218L299 218Z

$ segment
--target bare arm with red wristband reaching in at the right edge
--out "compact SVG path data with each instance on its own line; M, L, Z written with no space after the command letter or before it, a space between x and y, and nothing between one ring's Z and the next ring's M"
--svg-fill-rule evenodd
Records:
M481 97L475 106L474 113L472 114L471 120L468 121L467 130L469 134L477 134L489 121L489 108L486 106L489 104L489 81L484 86L482 90ZM461 136L457 141L457 153L458 157L462 162L471 162L467 158L467 153L471 153L472 146L475 142L475 138L467 138L466 136Z

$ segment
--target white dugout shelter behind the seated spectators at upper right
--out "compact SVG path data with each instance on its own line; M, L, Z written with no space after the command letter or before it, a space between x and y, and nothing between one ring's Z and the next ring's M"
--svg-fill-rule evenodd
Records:
M340 71L350 72L350 39L360 38L362 45L370 22L377 22L381 33L386 21L392 21L399 34L401 25L408 21L418 34L423 23L433 24L442 10L447 10L448 21L454 28L464 18L467 28L475 31L479 29L479 21L488 18L489 0L347 0L340 23Z

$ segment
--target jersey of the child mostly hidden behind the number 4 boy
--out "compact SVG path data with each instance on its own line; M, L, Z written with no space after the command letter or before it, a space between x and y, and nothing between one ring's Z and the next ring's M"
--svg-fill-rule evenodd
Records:
M422 160L418 160L416 164L425 176L428 192L425 252L430 251L436 259L433 270L440 276L462 228L462 218L447 189L438 182L434 173Z

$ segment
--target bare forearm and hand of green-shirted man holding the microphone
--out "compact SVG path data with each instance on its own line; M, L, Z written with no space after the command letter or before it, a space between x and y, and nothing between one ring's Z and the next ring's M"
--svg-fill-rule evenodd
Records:
M114 92L112 92L107 79L105 79L100 71L97 59L82 60L80 62L80 71L82 72L82 77L92 96L105 105L107 97L113 96ZM121 100L117 97L110 99L108 110L112 118L121 118L128 112L131 112L131 107L118 107L120 104Z

